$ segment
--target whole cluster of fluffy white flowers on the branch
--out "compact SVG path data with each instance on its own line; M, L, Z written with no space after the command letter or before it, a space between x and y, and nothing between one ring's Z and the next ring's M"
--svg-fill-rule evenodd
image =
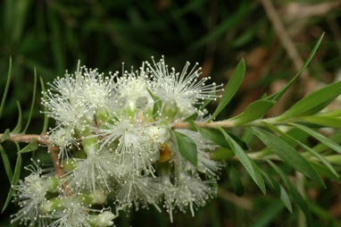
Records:
M172 125L188 117L204 121L200 106L215 99L221 86L206 85L209 78L201 77L196 64L186 63L179 73L163 57L152 60L108 77L82 66L50 84L42 104L56 127L47 136L60 148L65 172L60 181L70 195L59 189L59 196L47 197L45 178L32 172L18 186L28 200L20 202L13 221L25 216L31 224L40 218L39 226L110 226L116 215L91 208L107 196L116 210L154 206L172 221L174 212L194 215L215 196L221 164L210 159L214 145L194 130ZM181 155L174 133L195 144L197 164ZM38 189L31 193L33 187Z

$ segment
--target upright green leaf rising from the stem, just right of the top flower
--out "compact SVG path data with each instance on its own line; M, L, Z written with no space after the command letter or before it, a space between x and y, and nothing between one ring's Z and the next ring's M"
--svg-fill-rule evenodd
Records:
M237 89L240 87L244 80L245 75L245 62L244 59L240 60L237 64L236 70L233 72L231 78L229 79L228 84L224 88L224 93L220 99L220 102L217 106L217 109L212 114L211 118L208 122L211 122L220 112L225 108L226 105L229 104L229 101L232 97L235 96Z

